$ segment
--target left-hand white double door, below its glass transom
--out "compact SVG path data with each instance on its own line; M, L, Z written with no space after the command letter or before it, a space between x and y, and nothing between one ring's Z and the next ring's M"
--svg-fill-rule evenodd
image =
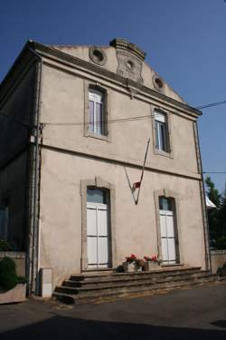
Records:
M109 265L108 205L87 203L87 257L89 268Z

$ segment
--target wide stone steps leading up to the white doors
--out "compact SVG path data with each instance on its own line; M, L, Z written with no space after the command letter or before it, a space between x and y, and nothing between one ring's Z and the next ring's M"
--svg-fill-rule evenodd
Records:
M179 287L191 287L216 281L216 276L200 267L162 267L155 271L135 273L88 272L72 275L53 296L64 303L97 301L144 292L157 292Z

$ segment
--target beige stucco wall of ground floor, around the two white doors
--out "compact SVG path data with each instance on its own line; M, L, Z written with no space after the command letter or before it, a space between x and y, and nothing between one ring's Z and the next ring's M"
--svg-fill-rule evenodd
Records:
M127 171L127 174L126 174ZM116 189L117 263L130 253L157 253L154 192L176 192L181 262L204 267L202 209L199 183L146 171L136 206L128 179L139 180L140 170L59 151L42 150L40 267L53 268L53 286L80 272L80 180L101 177ZM195 199L193 199L195 197Z

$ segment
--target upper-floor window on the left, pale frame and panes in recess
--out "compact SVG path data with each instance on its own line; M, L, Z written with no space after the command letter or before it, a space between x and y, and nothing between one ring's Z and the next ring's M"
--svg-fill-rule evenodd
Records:
M104 92L89 89L89 131L106 135Z

